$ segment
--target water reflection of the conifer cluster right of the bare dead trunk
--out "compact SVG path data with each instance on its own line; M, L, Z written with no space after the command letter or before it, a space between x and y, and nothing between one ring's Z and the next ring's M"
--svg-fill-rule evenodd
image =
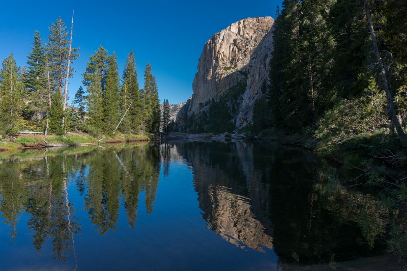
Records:
M158 188L160 160L155 145L99 149L89 157L88 192L85 209L100 234L118 227L123 195L128 223L137 221L139 194L146 193L147 213L153 211Z

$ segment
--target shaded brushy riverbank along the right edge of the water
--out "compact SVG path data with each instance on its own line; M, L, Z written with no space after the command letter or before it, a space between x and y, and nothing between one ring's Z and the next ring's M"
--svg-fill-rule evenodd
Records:
M375 191L375 197L390 214L387 231L378 238L407 266L407 149L388 129L318 139L273 131L258 139L311 150L335 164L338 171L352 171L352 177L331 178L331 181L350 189L358 186Z

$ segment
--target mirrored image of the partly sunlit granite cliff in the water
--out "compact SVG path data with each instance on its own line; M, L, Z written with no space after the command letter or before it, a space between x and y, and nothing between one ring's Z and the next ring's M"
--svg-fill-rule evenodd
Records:
M241 142L177 146L193 168L199 207L208 227L238 247L263 251L273 248L267 215L269 184L261 183L251 148Z

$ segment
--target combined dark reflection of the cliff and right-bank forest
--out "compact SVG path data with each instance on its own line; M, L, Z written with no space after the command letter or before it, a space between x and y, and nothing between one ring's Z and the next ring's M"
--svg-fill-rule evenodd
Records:
M259 142L195 142L177 150L193 168L208 227L238 247L273 248L288 269L335 265L382 248L387 209L328 181L333 169L312 153Z

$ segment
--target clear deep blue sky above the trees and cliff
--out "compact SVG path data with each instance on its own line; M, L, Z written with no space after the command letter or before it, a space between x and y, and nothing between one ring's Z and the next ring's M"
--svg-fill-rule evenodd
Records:
M26 65L35 30L43 41L48 26L60 16L70 28L74 10L73 46L80 47L69 79L72 98L82 85L86 61L102 45L117 54L119 73L133 50L140 88L150 62L160 102L186 101L192 95L203 45L213 34L248 17L274 17L280 0L208 1L5 1L0 0L0 61L12 52L17 65Z

